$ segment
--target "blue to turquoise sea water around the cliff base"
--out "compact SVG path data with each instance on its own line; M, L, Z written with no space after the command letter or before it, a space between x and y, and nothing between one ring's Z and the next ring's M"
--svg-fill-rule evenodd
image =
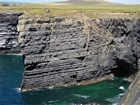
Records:
M123 78L73 87L20 92L21 56L0 56L0 105L117 105L130 85ZM93 105L94 105L93 104Z

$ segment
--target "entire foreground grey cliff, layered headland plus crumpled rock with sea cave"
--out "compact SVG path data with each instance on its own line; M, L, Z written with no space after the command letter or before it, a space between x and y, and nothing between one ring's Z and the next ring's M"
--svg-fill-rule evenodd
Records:
M20 46L28 90L130 76L140 58L140 19L20 17Z

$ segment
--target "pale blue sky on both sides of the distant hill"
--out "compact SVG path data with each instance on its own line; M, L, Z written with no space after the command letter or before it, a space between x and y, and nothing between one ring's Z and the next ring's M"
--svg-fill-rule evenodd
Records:
M0 0L0 2L56 2L56 1L67 1L67 0ZM117 3L125 4L140 4L140 0L107 0Z

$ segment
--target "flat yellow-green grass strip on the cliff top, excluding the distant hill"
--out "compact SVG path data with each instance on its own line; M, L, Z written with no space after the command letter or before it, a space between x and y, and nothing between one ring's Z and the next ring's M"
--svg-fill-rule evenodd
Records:
M45 13L44 10L50 10L50 13ZM140 5L117 5L117 4L99 5L95 3L84 5L70 3L49 3L49 4L40 3L40 4L21 4L19 6L9 6L9 7L4 7L0 5L0 11L20 11L25 12L25 15L31 16L32 15L72 16L78 13L84 13L89 17L95 17L93 12L113 12L113 13L130 13L130 14L137 13L137 15L140 16Z

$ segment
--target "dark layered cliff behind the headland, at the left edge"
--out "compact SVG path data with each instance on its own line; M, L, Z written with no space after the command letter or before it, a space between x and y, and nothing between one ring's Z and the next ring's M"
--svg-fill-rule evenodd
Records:
M22 13L0 13L0 53L19 53L18 16Z

